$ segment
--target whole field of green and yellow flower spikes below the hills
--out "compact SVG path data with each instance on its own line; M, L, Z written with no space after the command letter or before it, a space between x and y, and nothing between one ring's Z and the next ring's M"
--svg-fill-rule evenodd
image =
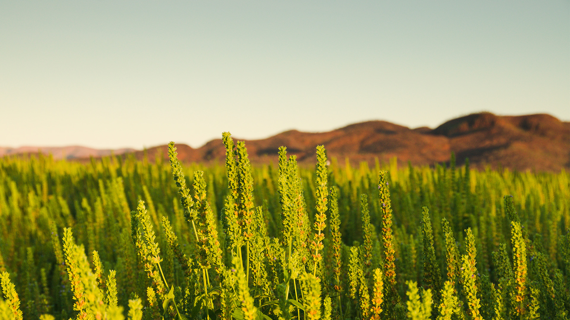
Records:
M2 319L570 317L570 177L0 159Z

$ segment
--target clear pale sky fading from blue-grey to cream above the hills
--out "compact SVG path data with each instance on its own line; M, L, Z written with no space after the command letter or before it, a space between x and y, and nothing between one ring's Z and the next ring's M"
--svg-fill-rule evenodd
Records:
M0 146L570 120L570 2L0 3Z

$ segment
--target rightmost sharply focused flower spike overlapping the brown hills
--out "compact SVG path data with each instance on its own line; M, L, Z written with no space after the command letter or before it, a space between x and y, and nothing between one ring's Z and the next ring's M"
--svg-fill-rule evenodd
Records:
M324 146L317 146L317 179L316 179L316 210L317 214L315 216L315 240L311 241L311 249L315 251L312 255L313 260L315 261L315 268L313 275L316 276L317 272L317 264L323 260L323 257L320 255L319 250L323 249L323 239L324 228L327 225L324 223L327 220L327 216L325 212L327 211L327 197L328 197L328 188L327 188L327 177L328 177L328 169L327 169L327 155L325 154Z

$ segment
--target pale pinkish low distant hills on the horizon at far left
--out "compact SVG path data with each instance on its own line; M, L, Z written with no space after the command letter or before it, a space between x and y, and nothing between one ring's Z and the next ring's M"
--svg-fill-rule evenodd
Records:
M110 149L93 149L82 146L67 146L67 147L32 147L24 146L17 148L0 147L0 157L4 155L25 155L25 154L51 154L54 159L84 159L89 157L105 157L111 154L123 154L134 152L135 149L124 148L117 150Z

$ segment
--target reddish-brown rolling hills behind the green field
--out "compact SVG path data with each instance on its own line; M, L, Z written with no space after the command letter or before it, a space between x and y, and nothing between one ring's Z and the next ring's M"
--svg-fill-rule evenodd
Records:
M323 133L290 130L262 140L246 140L253 163L277 161L279 146L296 154L299 162L315 162L315 146L324 145L329 157L349 158L353 163L374 159L413 165L433 165L450 160L451 151L458 163L469 157L479 168L503 166L516 170L559 171L570 168L570 122L548 114L496 116L484 112L445 122L433 130L410 129L385 121L367 121ZM167 146L136 151L154 158L166 157ZM225 159L221 139L198 149L177 145L178 157L185 162L219 162Z

